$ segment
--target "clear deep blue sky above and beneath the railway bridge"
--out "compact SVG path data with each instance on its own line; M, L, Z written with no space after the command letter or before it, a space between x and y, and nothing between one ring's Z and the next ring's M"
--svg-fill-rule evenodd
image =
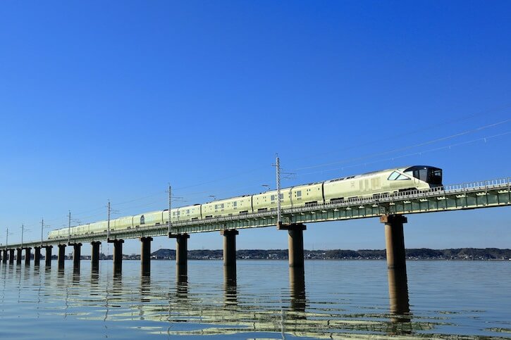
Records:
M3 1L0 242L167 205L427 164L511 176L509 1ZM485 139L486 138L486 139ZM510 208L410 215L410 248L511 244ZM306 248L384 248L376 219ZM45 229L46 234L49 229ZM153 248L175 248L154 240ZM221 248L218 233L189 248ZM274 227L238 248L286 248ZM110 252L103 245L104 252ZM86 246L83 253L89 252ZM139 253L137 240L125 253Z

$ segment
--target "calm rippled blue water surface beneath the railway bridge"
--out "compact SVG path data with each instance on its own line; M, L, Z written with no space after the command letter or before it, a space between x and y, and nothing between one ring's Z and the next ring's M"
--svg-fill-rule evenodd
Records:
M384 261L306 261L304 282L286 261L238 261L236 282L221 261L186 280L173 261L72 265L1 264L0 339L511 338L511 262L409 261L407 287Z

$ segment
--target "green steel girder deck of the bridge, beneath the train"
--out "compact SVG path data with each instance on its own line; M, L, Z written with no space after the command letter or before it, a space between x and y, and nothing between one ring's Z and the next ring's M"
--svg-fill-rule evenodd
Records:
M379 198L352 199L340 203L314 204L282 210L283 224L314 223L355 218L375 218L381 215L434 213L439 211L468 210L511 206L511 178L455 184L427 191L405 191ZM276 210L236 215L207 220L173 222L172 234L218 232L227 229L247 229L277 225ZM152 225L135 229L110 232L109 239L137 239L168 235L168 225ZM70 244L106 241L107 233L85 234L70 237ZM2 248L26 248L68 244L68 238L8 244Z

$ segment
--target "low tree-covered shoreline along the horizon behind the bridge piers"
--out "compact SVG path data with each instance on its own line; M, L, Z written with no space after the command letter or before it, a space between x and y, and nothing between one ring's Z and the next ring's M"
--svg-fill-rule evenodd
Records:
M152 258L176 259L176 251L172 249L159 249L151 254ZM452 248L452 249L406 249L406 256L410 260L510 260L511 249L498 248ZM188 251L190 260L221 260L221 250L194 250ZM245 249L236 251L240 260L286 260L287 249ZM333 249L304 251L304 257L311 260L384 260L386 251L362 249L358 251Z

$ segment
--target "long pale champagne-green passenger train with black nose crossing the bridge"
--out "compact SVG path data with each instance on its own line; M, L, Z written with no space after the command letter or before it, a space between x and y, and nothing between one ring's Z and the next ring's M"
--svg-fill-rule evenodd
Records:
M426 190L442 187L442 169L427 165L413 165L340 177L334 180L297 185L281 189L281 208L314 206L324 203L342 203L352 199L379 198L413 189ZM171 209L171 222L190 222L235 215L263 213L277 209L277 191L221 199L204 204ZM140 229L168 224L168 209L110 220L110 231ZM51 230L48 239L104 233L106 220Z

